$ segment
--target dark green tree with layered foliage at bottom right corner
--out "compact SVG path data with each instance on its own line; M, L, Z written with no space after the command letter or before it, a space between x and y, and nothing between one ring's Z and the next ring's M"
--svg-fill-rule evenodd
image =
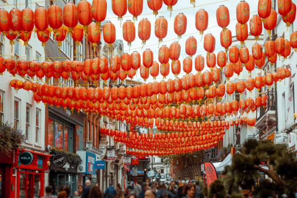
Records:
M296 155L289 152L285 145L250 139L244 143L242 153L233 155L232 164L225 167L222 175L225 175L223 181L229 194L239 192L240 188L251 189L262 172L278 186L278 193L285 192L294 197L297 192L296 170ZM264 184L263 187L270 185Z

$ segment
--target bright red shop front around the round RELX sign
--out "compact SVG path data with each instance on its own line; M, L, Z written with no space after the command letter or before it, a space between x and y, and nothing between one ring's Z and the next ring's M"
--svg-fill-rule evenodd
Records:
M20 162L19 156L23 153L31 153L32 163L24 165ZM16 198L36 198L44 196L44 171L49 167L51 155L43 152L20 148L16 150L14 168L16 179Z

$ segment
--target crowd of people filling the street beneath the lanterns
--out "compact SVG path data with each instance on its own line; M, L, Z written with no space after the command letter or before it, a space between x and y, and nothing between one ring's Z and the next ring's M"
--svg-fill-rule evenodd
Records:
M58 196L52 195L53 188L45 188L46 195L42 198L69 198L70 188L64 186L60 189ZM85 181L85 186L79 185L74 193L74 198L203 198L199 182L195 183L171 181L158 182L128 182L125 190L120 184L116 188L110 184L105 192L101 192L99 184L92 186L90 180Z

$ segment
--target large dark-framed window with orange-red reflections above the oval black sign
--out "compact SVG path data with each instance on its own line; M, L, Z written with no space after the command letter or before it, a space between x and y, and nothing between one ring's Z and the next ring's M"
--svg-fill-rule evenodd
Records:
M61 123L49 118L49 146L72 152L72 128L65 123Z

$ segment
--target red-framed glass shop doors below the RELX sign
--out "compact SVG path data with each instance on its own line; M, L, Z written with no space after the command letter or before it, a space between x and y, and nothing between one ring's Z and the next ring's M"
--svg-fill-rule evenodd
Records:
M39 198L40 197L40 174L20 172L19 174L19 197Z

